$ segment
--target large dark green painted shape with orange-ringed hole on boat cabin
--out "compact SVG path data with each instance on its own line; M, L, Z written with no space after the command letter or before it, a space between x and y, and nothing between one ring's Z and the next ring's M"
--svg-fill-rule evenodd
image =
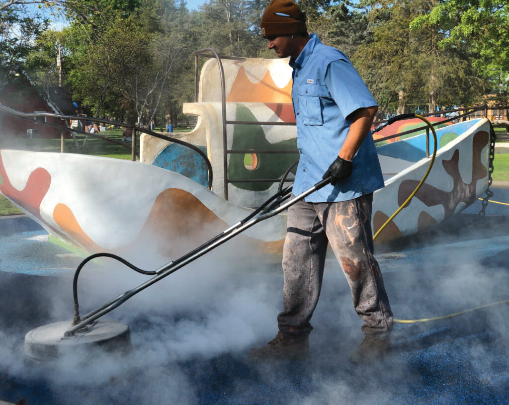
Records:
M237 121L257 121L253 113L243 105L237 105ZM234 153L230 155L228 165L229 180L259 180L278 179L298 158L297 139L284 140L278 143L270 143L260 125L235 125L233 131L233 150L294 150L295 154L259 154L258 167L249 170L244 166L245 154ZM249 159L246 159L246 162ZM295 168L292 170L295 174ZM273 183L235 183L235 187L243 190L263 191L269 189Z

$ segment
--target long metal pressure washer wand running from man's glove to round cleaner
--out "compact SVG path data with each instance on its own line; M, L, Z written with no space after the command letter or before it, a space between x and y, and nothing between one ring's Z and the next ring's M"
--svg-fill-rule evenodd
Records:
M307 197L309 194L314 193L317 190L320 190L324 186L330 183L330 177L327 179L324 179L318 183L316 183L313 187L309 188L308 190L304 191L303 193L297 195L296 197L290 199L284 204L279 205L279 207L275 208L274 204L275 202L286 200L291 195L291 189L290 187L287 187L285 190L283 190L280 194L281 196L279 199L276 199L274 203L272 203L268 208L261 210L258 215L250 218L252 214L250 214L247 218L249 218L247 221L246 219L237 222L235 225L230 226L228 229L225 229L221 234L217 235L216 237L212 238L209 242L206 242L203 244L200 248L193 249L190 253L185 254L181 258L176 259L175 261L169 262L166 265L162 266L161 268L157 269L155 271L156 276L151 278L150 280L144 282L143 284L138 285L137 287L133 288L130 291L126 291L125 293L121 294L120 296L114 298L113 300L109 301L105 305L103 305L100 308L97 308L96 310L88 313L87 315L83 316L83 319L80 322L75 323L70 329L68 329L65 332L66 337L73 336L75 332L82 329L83 327L89 325L90 323L94 322L95 320L99 319L101 316L105 315L106 313L114 310L124 302L126 302L129 298L136 295L140 291L145 290L145 288L149 287L150 285L156 283L157 281L163 279L166 276L169 276L170 274L176 272L177 270L181 269L182 267L186 266L187 264L193 262L197 258L203 256L204 254L210 252L212 249L215 249L219 245L222 245L224 242L229 241L236 235L240 234L247 228L250 228L251 226L257 224L258 222L261 222L265 219L271 218L283 211L285 211L287 208L291 207L295 203L298 203L298 201L302 200L303 198ZM272 201L274 198L271 197L267 201ZM264 204L264 206L268 204ZM258 211L258 210L257 210ZM75 308L77 309L77 308Z

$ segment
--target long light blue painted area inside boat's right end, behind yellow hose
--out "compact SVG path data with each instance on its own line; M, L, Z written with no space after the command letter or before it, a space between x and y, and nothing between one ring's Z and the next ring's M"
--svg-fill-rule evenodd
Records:
M458 136L472 128L479 122L480 119L465 121L455 125L448 125L436 130L438 144L440 145L440 138L446 133L455 133ZM429 139L430 152L433 151L433 136L430 135ZM403 139L398 142L387 143L377 147L379 155L390 156L393 158L405 159L410 162L417 162L426 157L426 132L413 136L411 138Z

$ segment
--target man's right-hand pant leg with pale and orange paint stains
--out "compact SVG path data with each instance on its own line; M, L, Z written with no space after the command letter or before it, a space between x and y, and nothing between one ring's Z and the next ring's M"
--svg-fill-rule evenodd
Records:
M350 285L355 311L364 321L362 333L376 335L392 330L392 311L373 256L371 210L373 194L349 201L320 204L325 232Z

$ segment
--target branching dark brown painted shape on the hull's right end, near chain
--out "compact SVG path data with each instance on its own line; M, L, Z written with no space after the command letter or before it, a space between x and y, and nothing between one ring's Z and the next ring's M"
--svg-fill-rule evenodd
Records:
M467 206L476 199L477 181L484 179L488 174L486 167L481 161L481 153L488 144L489 134L486 131L479 131L474 134L472 141L472 181L469 184L463 182L460 175L460 151L457 149L450 160L443 160L442 165L446 173L453 178L453 189L443 191L429 184L423 184L415 194L415 198L420 199L427 207L442 205L445 211L445 218L451 217L459 203L463 202ZM398 204L405 202L408 196L415 190L419 182L416 180L405 180L401 182L398 189Z

